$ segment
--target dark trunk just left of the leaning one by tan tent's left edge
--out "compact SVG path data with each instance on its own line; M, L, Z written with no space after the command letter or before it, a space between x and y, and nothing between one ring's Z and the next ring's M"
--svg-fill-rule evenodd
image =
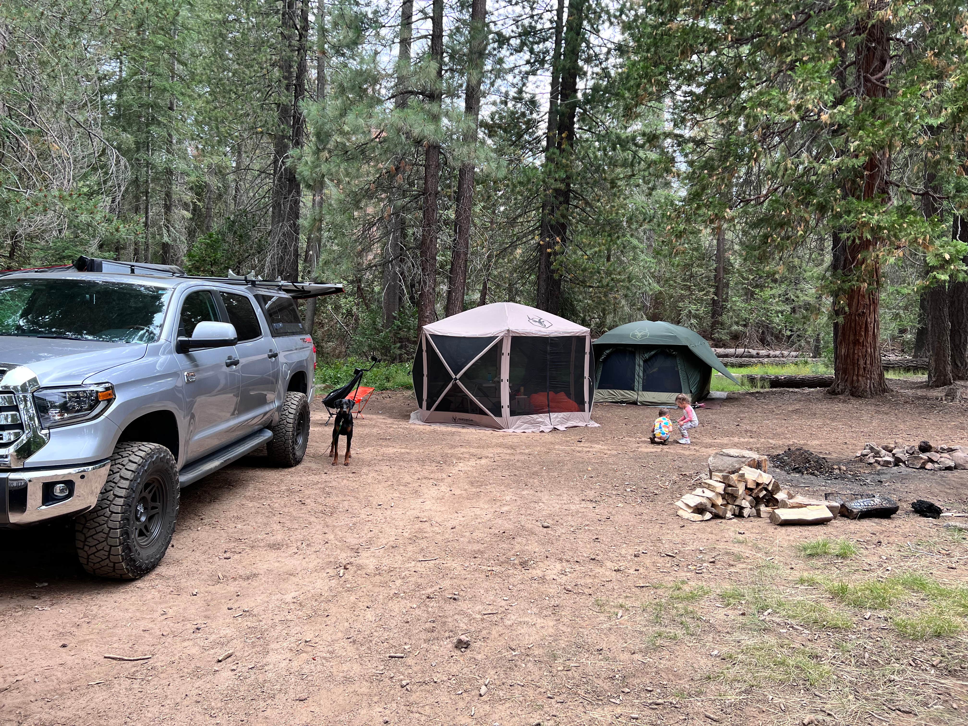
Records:
M443 0L433 0L430 55L436 66L430 91L430 115L435 137L424 142L423 225L420 234L420 295L417 328L437 319L438 188L440 181L440 103L443 95Z

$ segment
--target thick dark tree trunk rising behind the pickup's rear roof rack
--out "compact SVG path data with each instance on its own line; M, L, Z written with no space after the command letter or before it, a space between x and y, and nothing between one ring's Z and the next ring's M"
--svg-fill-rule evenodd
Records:
M301 103L306 95L306 36L309 0L283 0L279 52L278 129L273 146L272 228L266 268L270 278L299 277L299 211L302 187L289 163L302 145L305 123Z

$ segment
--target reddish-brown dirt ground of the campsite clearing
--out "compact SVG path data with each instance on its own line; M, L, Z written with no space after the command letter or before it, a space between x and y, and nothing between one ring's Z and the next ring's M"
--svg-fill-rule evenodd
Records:
M964 532L944 528L968 520L909 507L968 509L968 471L850 461L866 440L968 443L968 408L916 387L730 394L697 411L693 445L656 447L654 408L499 434L411 425L411 395L379 396L348 468L327 459L318 408L300 467L250 457L184 490L140 581L85 576L64 525L0 533L0 723L965 722L963 634L907 640L892 618L913 605L852 607L823 583L968 585ZM901 512L675 516L714 451L789 445L869 475L784 482L891 494ZM818 537L858 554L804 557Z

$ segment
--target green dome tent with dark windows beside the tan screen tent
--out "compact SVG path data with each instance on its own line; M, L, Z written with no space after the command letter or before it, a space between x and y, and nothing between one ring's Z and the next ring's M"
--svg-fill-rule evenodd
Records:
M663 406L675 404L680 393L702 401L710 394L713 368L739 382L699 333L669 322L628 322L593 347L596 404Z

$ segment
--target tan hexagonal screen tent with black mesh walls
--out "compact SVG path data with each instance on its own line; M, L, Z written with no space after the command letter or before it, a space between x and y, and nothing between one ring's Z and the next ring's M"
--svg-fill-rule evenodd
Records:
M413 361L414 423L537 432L591 420L590 331L517 303L424 326Z

